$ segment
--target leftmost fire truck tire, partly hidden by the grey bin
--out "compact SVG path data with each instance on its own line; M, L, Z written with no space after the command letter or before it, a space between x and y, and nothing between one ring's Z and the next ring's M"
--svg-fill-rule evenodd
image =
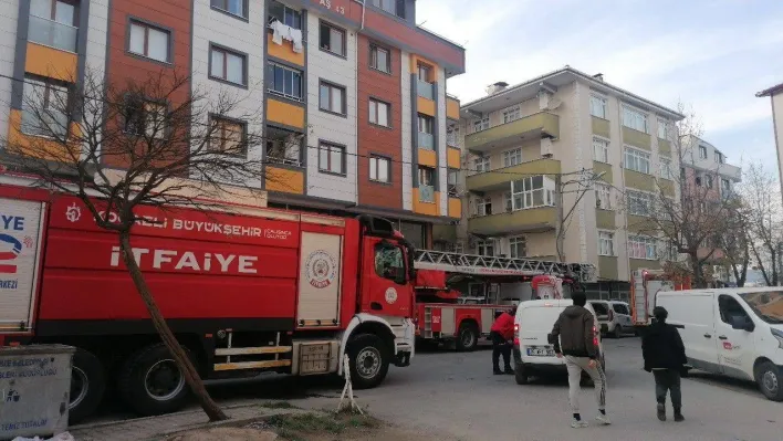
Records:
M91 353L76 348L71 368L69 423L74 424L92 414L106 390L103 364Z

